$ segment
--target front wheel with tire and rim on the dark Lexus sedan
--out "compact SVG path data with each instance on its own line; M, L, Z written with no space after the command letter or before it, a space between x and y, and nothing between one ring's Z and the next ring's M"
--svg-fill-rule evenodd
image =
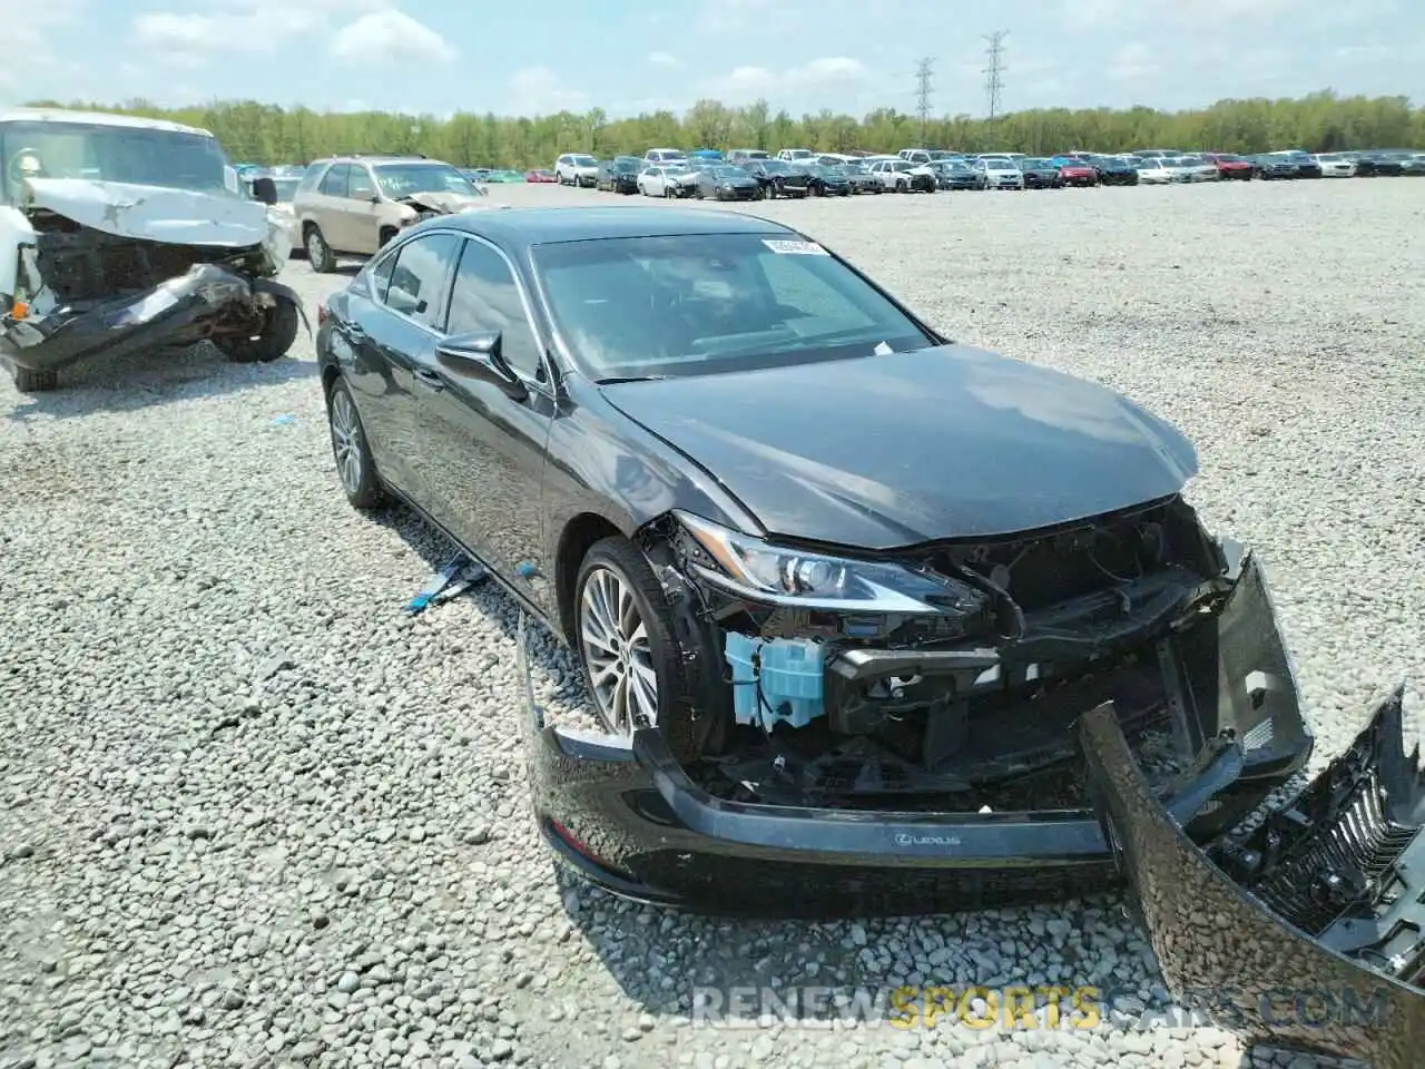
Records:
M673 616L653 569L627 539L603 539L584 556L574 582L574 633L603 728L618 738L657 728L678 761L697 760L717 713L695 724L677 700L683 661Z

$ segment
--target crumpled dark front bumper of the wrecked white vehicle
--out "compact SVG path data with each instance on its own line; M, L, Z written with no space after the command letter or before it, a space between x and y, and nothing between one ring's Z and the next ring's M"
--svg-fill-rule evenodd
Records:
M279 294L298 308L301 298L272 279L251 279L217 264L198 264L152 289L91 305L23 319L0 319L0 358L28 371L60 371L97 356L118 358L141 349L187 345L208 334L227 306L254 294Z

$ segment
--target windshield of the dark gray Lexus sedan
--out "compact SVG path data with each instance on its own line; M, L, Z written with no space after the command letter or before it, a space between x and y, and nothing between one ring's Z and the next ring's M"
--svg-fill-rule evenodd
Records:
M533 252L554 325L600 379L752 371L932 344L851 268L801 239L603 238Z

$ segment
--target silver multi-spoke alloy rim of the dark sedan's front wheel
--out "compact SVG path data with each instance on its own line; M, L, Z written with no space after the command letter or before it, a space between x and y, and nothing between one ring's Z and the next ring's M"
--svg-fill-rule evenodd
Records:
M628 580L607 567L584 579L579 637L598 718L611 734L631 737L658 723L658 677L648 627Z

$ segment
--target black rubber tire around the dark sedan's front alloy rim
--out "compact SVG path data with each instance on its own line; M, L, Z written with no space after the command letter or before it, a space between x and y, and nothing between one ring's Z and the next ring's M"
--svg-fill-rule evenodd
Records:
M608 582L610 577L613 579L611 584ZM623 630L631 631L633 636L638 634L638 631L646 636L646 641L634 640L630 644L627 643L627 637L630 636L626 634L621 644L628 650L628 657L620 656L616 659L608 656L608 667L617 673L616 666L623 663L626 667L621 671L628 671L630 667L627 666L641 663L644 666L643 677L646 677L647 668L651 668L656 690L651 700L644 690L628 693L628 698L637 698L638 694L643 694L646 701L651 701L658 733L667 743L668 750L681 763L695 761L710 745L715 745L714 740L720 731L725 730L727 714L712 714L707 718L700 717L694 720L691 710L680 701L678 696L685 693L687 686L683 651L674 637L677 631L673 613L648 562L631 542L621 536L607 537L594 543L589 553L584 554L584 560L579 567L579 576L574 580L574 646L596 714L604 721L607 731L626 737L631 735L634 728L630 727L628 720L633 720L637 713L624 721L616 723L614 717L618 716L618 708L613 697L617 691L617 684L610 687L600 680L600 688L596 688L596 673L598 670L590 664L590 657L597 656L591 650L597 651L598 646L586 641L583 637L586 634L586 621L589 623L589 630L593 633L607 633L610 630L600 623L606 614L594 609L600 601L600 593L604 596L617 593L620 603L614 606L614 613L617 614L614 623ZM627 610L628 606L631 606L636 617L627 611L620 611L621 609ZM631 626L634 620L637 620L637 624ZM633 671L636 677L640 676L637 668L633 668ZM631 703L634 708L637 704L637 700ZM636 723L640 721L641 724L647 723L644 717L638 717Z

